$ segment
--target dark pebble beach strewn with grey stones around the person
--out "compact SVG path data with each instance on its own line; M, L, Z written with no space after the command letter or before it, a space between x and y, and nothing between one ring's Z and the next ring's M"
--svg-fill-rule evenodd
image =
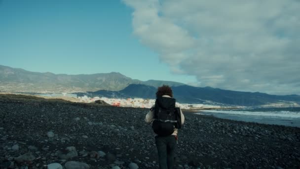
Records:
M144 122L147 112L1 96L0 168L157 169L154 134ZM299 127L184 113L175 169L300 168Z

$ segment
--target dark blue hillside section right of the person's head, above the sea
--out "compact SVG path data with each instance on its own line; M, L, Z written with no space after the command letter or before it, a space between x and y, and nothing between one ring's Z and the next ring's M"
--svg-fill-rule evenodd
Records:
M296 102L300 104L299 95L269 95L260 92L242 92L223 90L212 87L193 87L189 85L172 87L178 100L189 103L217 102L228 105L258 106L272 103Z

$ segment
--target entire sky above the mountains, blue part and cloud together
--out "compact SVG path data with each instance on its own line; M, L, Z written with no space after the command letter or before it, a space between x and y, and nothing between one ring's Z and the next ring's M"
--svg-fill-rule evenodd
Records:
M0 65L300 94L299 0L0 0Z

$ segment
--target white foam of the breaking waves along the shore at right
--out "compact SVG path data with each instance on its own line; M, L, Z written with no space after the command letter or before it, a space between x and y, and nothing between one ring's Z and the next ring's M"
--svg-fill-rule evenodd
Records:
M244 115L244 116L264 116L274 118L300 118L300 112L289 111L274 111L274 112L252 112L252 111L233 111L233 110L203 110L199 113L221 113L229 115Z

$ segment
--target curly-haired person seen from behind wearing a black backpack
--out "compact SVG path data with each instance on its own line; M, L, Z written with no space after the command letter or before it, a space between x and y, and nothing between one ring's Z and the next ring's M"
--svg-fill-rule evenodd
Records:
M156 133L155 144L158 152L159 169L173 169L178 128L185 123L185 116L180 108L176 112L176 100L170 86L162 85L156 92L155 105L145 117ZM180 125L177 125L177 124Z

